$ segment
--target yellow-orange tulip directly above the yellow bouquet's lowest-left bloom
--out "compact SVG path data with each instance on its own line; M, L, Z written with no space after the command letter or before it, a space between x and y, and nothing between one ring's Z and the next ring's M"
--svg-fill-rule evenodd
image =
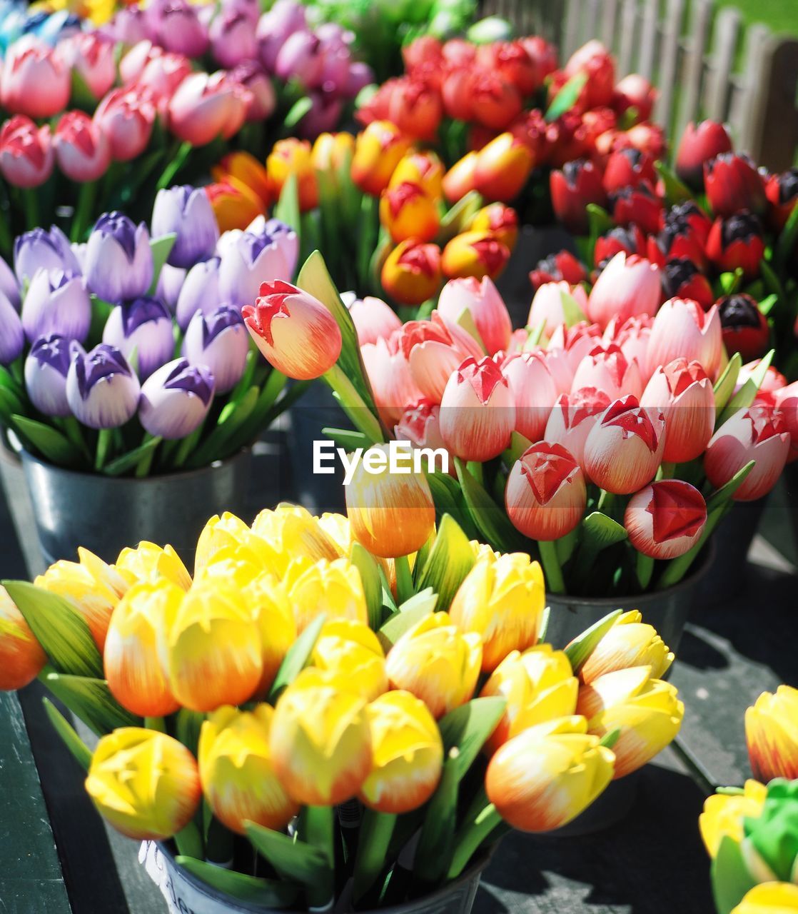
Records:
M140 717L180 707L164 669L166 635L184 591L170 580L134 584L113 611L103 665L112 696Z

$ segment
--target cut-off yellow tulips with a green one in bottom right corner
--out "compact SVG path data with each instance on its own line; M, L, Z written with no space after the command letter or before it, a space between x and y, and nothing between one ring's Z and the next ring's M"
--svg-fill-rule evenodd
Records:
M699 819L718 914L798 911L798 689L780 685L746 711L756 780L709 797Z

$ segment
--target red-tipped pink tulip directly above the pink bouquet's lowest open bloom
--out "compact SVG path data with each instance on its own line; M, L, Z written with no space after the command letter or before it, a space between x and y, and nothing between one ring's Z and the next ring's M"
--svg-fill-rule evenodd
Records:
M665 416L663 460L686 463L707 450L715 429L715 392L699 362L675 358L658 367L646 385L640 405Z

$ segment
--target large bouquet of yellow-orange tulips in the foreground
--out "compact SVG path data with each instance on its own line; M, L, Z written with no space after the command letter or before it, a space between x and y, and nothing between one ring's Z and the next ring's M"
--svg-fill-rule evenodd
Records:
M509 828L569 823L680 727L640 613L553 649L537 563L436 530L423 475L387 482L349 519L215 516L193 579L143 543L0 591L0 688L38 676L101 738L48 703L100 813L270 909L426 894Z

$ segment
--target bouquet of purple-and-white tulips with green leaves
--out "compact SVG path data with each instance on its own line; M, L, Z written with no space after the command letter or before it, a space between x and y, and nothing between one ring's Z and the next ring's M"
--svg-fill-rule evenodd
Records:
M253 441L302 386L264 370L241 317L293 275L294 233L261 219L219 238L205 192L159 191L148 228L120 212L84 245L59 228L0 260L0 420L48 462L111 475L196 468Z

